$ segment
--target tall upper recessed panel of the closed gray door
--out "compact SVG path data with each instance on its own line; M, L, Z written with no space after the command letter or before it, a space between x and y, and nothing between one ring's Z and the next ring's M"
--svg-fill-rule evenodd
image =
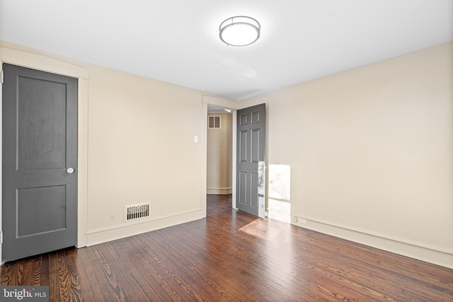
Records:
M18 91L18 170L64 168L66 85L19 77Z

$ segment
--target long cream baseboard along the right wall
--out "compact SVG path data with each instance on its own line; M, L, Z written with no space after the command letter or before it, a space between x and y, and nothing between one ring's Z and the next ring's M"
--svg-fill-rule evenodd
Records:
M453 255L449 252L443 252L432 248L423 248L418 245L403 243L398 240L384 238L382 236L374 236L359 231L352 231L348 228L332 226L331 224L312 221L309 219L306 219L305 223L294 222L294 220L292 220L292 224L294 226L308 228L309 230L317 231L319 233L325 233L327 235L350 240L355 243L368 245L373 248L379 248L380 250L386 250L387 252L394 252L398 255L411 257L417 260L430 262L434 265L440 265L442 267L453 269Z

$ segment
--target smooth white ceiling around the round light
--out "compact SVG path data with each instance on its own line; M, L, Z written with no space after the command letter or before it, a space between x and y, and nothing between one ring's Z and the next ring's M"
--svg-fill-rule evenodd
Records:
M452 41L453 0L0 0L0 40L241 100Z

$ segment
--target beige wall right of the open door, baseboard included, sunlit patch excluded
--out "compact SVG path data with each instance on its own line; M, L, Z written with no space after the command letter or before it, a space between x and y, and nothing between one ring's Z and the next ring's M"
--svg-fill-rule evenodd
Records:
M453 267L452 54L448 43L243 103L267 104L268 163L291 168L296 224Z

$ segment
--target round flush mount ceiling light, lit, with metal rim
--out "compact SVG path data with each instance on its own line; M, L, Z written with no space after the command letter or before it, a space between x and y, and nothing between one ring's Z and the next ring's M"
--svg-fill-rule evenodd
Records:
M246 46L260 37L261 26L258 21L246 16L226 19L219 27L220 40L231 46Z

